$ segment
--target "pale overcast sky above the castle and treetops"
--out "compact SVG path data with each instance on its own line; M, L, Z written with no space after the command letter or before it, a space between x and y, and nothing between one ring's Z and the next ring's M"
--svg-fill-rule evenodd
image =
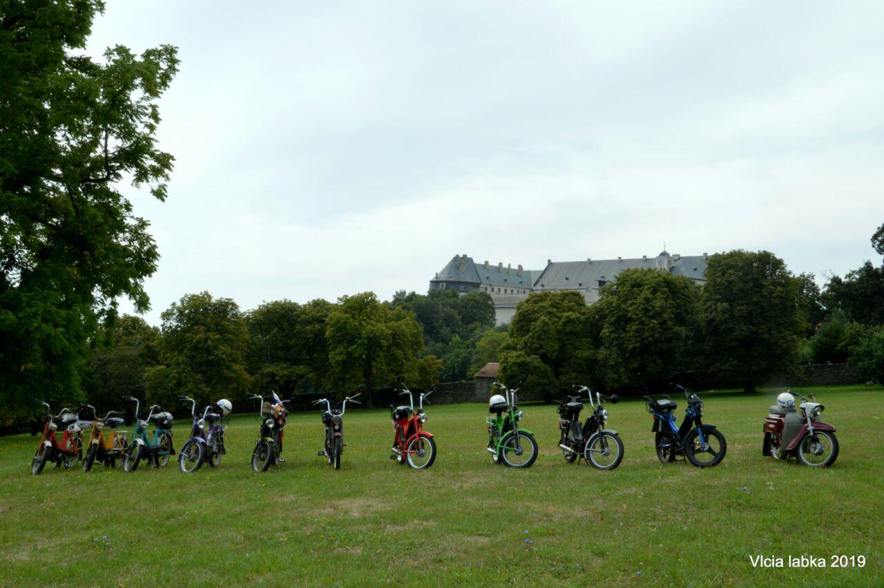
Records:
M179 47L149 322L423 292L476 261L873 258L884 4L109 0L89 51ZM131 305L124 304L124 309Z

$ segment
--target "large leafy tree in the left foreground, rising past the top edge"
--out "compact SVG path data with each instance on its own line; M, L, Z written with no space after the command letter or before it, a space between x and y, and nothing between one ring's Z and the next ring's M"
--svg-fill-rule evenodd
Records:
M172 157L157 149L157 101L174 47L83 54L97 0L0 7L0 403L71 400L103 317L128 296L149 306L148 223L119 192L160 200Z

